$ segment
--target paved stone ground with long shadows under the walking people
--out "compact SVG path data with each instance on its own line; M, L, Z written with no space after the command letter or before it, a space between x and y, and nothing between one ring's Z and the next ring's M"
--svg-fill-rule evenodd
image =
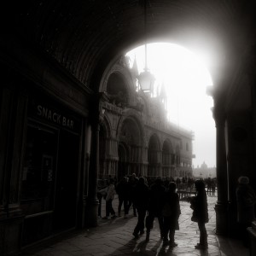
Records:
M241 245L240 241L228 239L214 234L215 212L214 205L217 197L208 196L209 223L207 226L208 249L195 249L199 242L199 230L197 224L191 222L192 210L188 202L180 201L182 214L179 218L180 230L176 231L177 247L163 247L160 239L159 225L154 222L154 228L150 234L150 240L145 241L145 235L134 239L131 235L137 218L131 214L128 218L116 218L113 220L99 219L98 227L90 230L76 231L72 235L62 237L54 243L44 242L36 247L24 251L27 256L82 256L82 255L172 255L172 256L247 256L249 250ZM113 207L117 209L117 200ZM105 204L102 203L102 215L104 216Z

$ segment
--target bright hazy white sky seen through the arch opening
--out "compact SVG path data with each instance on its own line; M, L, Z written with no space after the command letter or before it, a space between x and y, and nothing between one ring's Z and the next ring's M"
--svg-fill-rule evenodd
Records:
M133 63L136 56L139 72L145 66L144 46L128 53ZM206 88L212 85L207 71L207 58L195 55L177 44L148 44L148 68L154 74L155 86L165 84L168 96L168 118L173 123L195 132L193 165L216 166L213 101Z

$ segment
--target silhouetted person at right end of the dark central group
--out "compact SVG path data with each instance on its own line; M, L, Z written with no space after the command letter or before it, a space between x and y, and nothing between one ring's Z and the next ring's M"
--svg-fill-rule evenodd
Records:
M163 209L163 218L164 218L164 237L163 245L166 245L168 242L170 247L177 247L177 243L174 240L175 230L179 230L178 218L180 215L180 206L179 199L176 192L176 183L169 183L168 189L165 195L165 206L166 211ZM168 241L168 236L170 241Z

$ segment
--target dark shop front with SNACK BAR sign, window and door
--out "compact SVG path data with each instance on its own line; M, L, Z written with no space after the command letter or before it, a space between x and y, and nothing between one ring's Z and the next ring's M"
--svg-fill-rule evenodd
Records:
M81 119L47 98L29 97L20 208L21 246L77 225Z

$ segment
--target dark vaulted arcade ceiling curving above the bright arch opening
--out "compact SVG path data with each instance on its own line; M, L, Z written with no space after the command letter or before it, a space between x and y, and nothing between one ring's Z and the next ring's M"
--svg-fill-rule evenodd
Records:
M9 3L9 40L47 53L97 90L109 62L144 44L144 1L33 0ZM241 0L148 0L148 43L170 42L210 53L213 84L230 83L255 44L255 4Z

